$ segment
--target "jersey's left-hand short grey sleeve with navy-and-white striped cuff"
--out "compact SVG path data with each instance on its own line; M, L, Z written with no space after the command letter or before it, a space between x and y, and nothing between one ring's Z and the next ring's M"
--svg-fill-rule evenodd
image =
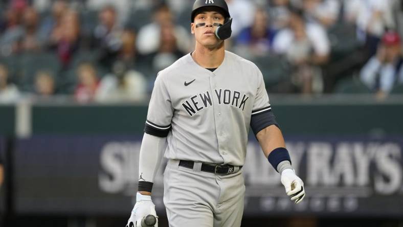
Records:
M152 89L144 132L156 137L167 137L171 130L172 115L171 98L164 78L159 74Z

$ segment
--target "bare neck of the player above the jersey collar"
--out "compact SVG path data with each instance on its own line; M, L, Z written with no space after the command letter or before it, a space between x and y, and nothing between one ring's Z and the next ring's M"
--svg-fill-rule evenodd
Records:
M199 64L201 67L206 69L214 69L221 65L222 61L225 57L225 47L224 43L213 49L209 49L198 45L196 43L196 47L194 52L192 53L193 60Z

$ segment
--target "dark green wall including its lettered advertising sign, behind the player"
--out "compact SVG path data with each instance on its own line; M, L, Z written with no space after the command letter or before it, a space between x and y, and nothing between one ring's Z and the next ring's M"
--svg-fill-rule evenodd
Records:
M400 99L272 100L307 197L297 206L289 201L252 135L242 169L245 215L403 215ZM135 200L146 112L131 104L0 106L0 152L13 154L15 212L125 215ZM153 189L160 213L164 165Z

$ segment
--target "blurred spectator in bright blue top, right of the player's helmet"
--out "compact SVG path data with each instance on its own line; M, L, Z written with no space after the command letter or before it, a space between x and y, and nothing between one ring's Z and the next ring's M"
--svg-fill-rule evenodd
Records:
M257 8L252 26L243 29L236 37L237 52L248 56L266 55L272 48L275 35L269 25L267 12Z

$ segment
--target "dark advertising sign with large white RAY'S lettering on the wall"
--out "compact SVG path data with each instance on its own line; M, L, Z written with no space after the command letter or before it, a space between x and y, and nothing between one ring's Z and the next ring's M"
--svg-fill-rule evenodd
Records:
M251 139L242 168L244 215L403 215L403 138L286 138L306 197L294 205L280 175ZM134 205L140 137L34 136L15 153L16 210L20 213L127 214ZM163 170L153 200L164 212Z

